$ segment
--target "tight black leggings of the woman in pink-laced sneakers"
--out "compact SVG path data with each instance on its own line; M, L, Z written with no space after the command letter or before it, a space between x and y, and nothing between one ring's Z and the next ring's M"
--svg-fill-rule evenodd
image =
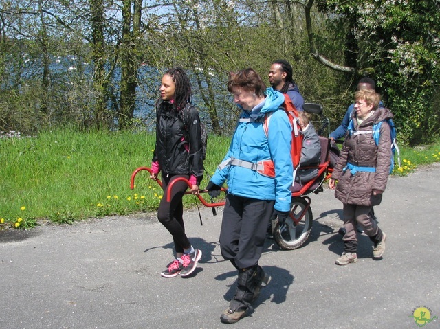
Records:
M168 185L170 185L170 183L178 177L189 179L187 174L180 174L170 177L166 177L165 174L162 174L162 188L164 189L164 196L159 203L157 218L173 236L176 253L183 253L184 248L187 249L191 247L191 243L185 234L184 204L182 202L182 198L184 197L184 193L188 188L188 185L184 181L178 181L175 183L173 185L173 190L171 191L170 202L166 201Z

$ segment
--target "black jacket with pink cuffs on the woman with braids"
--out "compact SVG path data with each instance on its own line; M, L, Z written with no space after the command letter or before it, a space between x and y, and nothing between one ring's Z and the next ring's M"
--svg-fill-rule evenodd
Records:
M156 146L153 161L163 175L189 174L203 179L200 117L194 106L182 110L160 100L156 106Z

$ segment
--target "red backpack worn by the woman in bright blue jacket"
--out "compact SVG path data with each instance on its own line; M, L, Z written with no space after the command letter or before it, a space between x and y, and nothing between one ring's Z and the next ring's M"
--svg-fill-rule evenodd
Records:
M303 147L303 133L301 131L300 124L298 122L298 111L292 100L289 98L289 95L286 93L284 95L284 103L282 104L287 117L289 118L289 122L292 125L292 149L290 154L292 155L292 163L294 163L294 170L298 168L300 164L301 157L301 148ZM266 137L269 136L269 122L270 117L273 112L267 113L265 115L263 129Z

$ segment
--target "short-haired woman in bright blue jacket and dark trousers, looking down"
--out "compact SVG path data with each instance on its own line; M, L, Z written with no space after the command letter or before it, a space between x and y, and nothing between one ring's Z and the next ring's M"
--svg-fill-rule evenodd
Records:
M228 181L220 232L221 254L238 270L236 293L221 321L245 317L261 286L270 281L259 258L272 215L282 222L289 215L293 164L292 126L281 105L284 96L266 86L254 69L243 69L228 81L228 91L241 109L230 148L206 190L219 196ZM281 109L281 111L278 111ZM265 118L271 115L267 135Z

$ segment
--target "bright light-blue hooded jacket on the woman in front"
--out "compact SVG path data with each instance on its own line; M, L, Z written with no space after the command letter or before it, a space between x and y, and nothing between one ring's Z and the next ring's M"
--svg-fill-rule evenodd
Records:
M228 193L258 200L275 200L274 208L287 212L290 209L293 183L293 163L290 153L292 126L287 114L280 109L284 96L272 88L266 89L265 102L252 111L241 108L240 118L252 118L250 122L238 122L226 159L234 157L256 163L272 159L275 163L275 177L266 177L254 170L240 166L217 168L212 183L219 186L228 181ZM268 137L263 130L266 113L273 112L269 122Z

